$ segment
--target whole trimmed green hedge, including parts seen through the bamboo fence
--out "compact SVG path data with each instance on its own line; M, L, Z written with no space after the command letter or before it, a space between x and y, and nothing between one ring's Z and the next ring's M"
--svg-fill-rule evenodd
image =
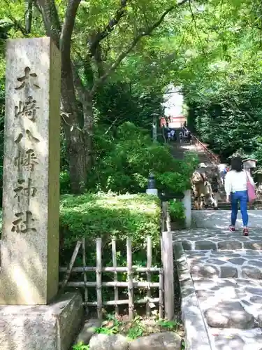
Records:
M117 265L126 266L126 238L132 239L133 265L146 266L145 243L147 235L152 237L152 265L161 263L160 256L159 199L150 195L85 194L63 195L60 204L60 233L64 241L60 250L60 264L67 265L71 258L75 241L86 237L87 265L96 266L96 237L103 242L103 266L112 266L112 237L117 240ZM81 255L75 265L82 265ZM112 273L103 273L103 280L112 281ZM82 280L77 274L75 279ZM126 281L126 273L118 274L119 281ZM152 276L152 280L154 276ZM88 280L95 281L96 274L88 273ZM103 288L103 300L112 300L112 288ZM120 294L127 293L122 288ZM136 293L146 293L145 290ZM141 295L141 294L140 294ZM126 297L126 295L124 296ZM89 290L89 300L96 300L96 291Z

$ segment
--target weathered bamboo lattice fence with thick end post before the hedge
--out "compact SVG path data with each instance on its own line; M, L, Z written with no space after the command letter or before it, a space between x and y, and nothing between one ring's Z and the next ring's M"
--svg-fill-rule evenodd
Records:
M85 290L85 307L96 307L98 318L103 316L103 307L112 305L115 306L115 314L119 314L119 305L127 304L129 306L129 318L133 319L134 304L145 304L146 312L151 314L152 303L159 304L159 317L163 318L163 307L165 307L165 316L169 319L173 318L174 312L174 284L173 284L173 244L170 232L163 232L161 239L161 256L163 267L152 267L152 239L147 237L147 267L137 267L132 264L132 244L131 239L126 239L126 257L127 266L117 267L117 244L115 239L112 239L112 267L103 267L102 265L102 239L96 239L96 266L86 266L85 246L86 241L78 241L75 246L71 261L68 267L60 267L59 272L65 272L64 280L61 281L61 288L75 287L84 288ZM75 258L78 255L80 246L82 245L82 267L73 267ZM72 272L80 272L83 274L84 281L69 281ZM87 280L87 272L96 272L96 281ZM103 272L112 272L113 281L102 281ZM117 280L118 273L127 273L127 281L120 282ZM144 273L147 276L147 281L136 281L133 278L135 273ZM159 274L159 282L152 282L152 274ZM103 301L102 288L114 288L114 300ZM166 293L164 293L164 287ZM96 288L96 301L89 301L88 289ZM119 288L127 288L128 299L119 300ZM139 300L134 298L134 288L147 288L147 296ZM159 288L159 296L152 297L151 289Z

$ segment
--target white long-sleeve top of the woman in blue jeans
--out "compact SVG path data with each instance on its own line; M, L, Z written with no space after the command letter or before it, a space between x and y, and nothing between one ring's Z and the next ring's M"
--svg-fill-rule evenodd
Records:
M225 177L225 190L226 195L229 196L231 192L237 192L237 191L246 191L247 190L247 176L254 186L254 180L252 179L249 172L242 171L242 172L235 172L235 170L231 170L226 174Z

